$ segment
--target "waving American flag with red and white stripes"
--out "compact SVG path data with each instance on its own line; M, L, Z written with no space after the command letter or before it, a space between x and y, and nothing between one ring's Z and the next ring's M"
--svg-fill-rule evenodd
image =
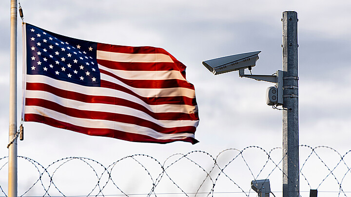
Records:
M23 24L22 119L133 142L197 143L185 66L155 47L102 44Z

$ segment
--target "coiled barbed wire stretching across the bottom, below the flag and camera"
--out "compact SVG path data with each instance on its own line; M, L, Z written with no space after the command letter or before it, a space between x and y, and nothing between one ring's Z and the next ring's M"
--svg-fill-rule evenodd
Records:
M351 165L351 150L341 155L338 151L328 146L311 147L309 145L300 145L299 149L300 161L303 161L301 162L302 165L300 165L300 197L303 194L308 194L307 189L320 190L318 191L319 196L321 193L335 193L338 197L350 195L351 192L346 190L350 190L351 185L351 168L349 167ZM323 155L319 151L324 151ZM331 164L332 161L329 159L331 154L333 157L336 157L333 160L333 164ZM328 159L323 160L322 158L325 155L327 155ZM275 191L275 193L281 193L281 175L284 174L282 161L284 157L287 157L287 155L282 155L282 148L280 147L266 151L259 146L248 146L242 150L230 148L221 151L215 157L199 150L186 154L177 153L169 156L163 162L149 155L135 154L123 157L108 166L90 158L67 157L44 167L31 158L18 156L21 161L26 161L34 166L35 173L38 176L29 187L21 189L24 190L21 197L30 196L31 192L36 193L35 196L38 196L38 187L42 188L39 196L43 197L157 197L170 195L214 197L226 194L250 197L257 195L249 184L251 180L256 179L271 179L271 190ZM5 171L4 167L8 164L7 158L0 158L0 173ZM258 161L260 161L261 165L258 164ZM57 177L60 175L61 168L77 162L86 165L89 169L88 171L92 172L94 177L93 179L86 179L85 176L81 176L80 181L89 181L93 183L91 184L93 186L89 189L87 195L66 195L67 193L57 185L57 182L61 182L62 178ZM180 169L177 168L178 164L181 166ZM322 167L317 169L316 165L321 165ZM142 179L142 184L127 184L125 181L122 181L128 178L128 176L123 175L124 173L136 172L137 168L141 169L137 175L137 180ZM83 167L79 167L79 169L83 169ZM118 170L121 169L124 170L119 172ZM191 169L192 172L186 172L187 169ZM199 170L195 171L196 169ZM68 173L74 172L73 169L68 171ZM314 173L316 171L318 172L317 174ZM323 173L325 175L322 178L316 178L316 175ZM87 175L87 173L85 172L84 175ZM23 181L23 179L20 181ZM278 184L276 184L277 182ZM190 187L188 185L192 185L192 183L196 184L193 185L192 191L189 192ZM133 187L133 189L140 187L144 189L143 191L148 191L128 192L126 189L128 185ZM0 182L1 193L4 195L3 197L7 197L3 187L3 183ZM75 186L72 185L72 187ZM168 190L167 188L173 189ZM166 191L164 191L165 189ZM299 188L296 188L296 191L298 190ZM113 195L110 193L113 193Z

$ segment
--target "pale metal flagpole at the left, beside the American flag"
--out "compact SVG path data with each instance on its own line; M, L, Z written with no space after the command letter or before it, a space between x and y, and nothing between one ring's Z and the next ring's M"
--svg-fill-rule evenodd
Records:
M17 128L17 0L11 0L9 143ZM8 197L17 197L17 139L9 144Z

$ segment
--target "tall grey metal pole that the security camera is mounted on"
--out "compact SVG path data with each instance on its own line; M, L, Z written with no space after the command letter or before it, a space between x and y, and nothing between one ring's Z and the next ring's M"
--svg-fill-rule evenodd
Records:
M283 12L283 197L299 197L297 13Z

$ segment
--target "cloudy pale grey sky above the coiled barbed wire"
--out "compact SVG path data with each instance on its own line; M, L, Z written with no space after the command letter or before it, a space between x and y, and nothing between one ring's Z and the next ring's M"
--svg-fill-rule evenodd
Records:
M64 157L87 157L105 165L132 154L164 161L193 150L216 156L250 145L282 146L282 112L265 103L273 84L214 76L202 61L262 51L253 74L282 70L282 12L297 12L299 143L351 149L351 1L349 0L21 0L24 21L64 36L167 50L187 66L194 84L200 141L133 143L94 137L39 123L24 123L18 155L42 165ZM0 2L0 157L7 156L10 0ZM21 95L21 20L18 18L18 123ZM2 180L2 179L1 179ZM249 183L248 183L249 184ZM24 187L24 186L23 186ZM278 187L279 188L279 187ZM7 186L5 187L7 190ZM0 195L1 196L1 195Z

